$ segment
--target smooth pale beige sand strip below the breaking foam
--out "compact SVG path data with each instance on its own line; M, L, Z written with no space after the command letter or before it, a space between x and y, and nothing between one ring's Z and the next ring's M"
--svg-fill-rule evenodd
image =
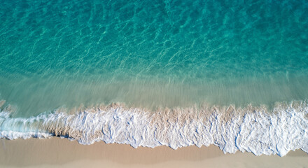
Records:
M308 167L297 150L284 157L252 153L224 154L217 146L132 148L97 142L90 146L67 139L1 139L0 167Z

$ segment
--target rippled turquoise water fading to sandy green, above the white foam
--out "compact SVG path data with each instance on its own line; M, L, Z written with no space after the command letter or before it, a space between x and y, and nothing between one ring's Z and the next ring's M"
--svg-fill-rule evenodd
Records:
M306 1L3 1L1 98L59 106L308 97Z

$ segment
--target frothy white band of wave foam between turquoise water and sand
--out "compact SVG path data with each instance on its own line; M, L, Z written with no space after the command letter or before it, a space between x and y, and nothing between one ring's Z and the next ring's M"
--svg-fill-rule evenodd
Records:
M0 113L0 137L6 139L48 138L130 144L132 147L179 148L214 144L225 153L248 151L255 155L286 155L302 149L308 153L307 103L265 107L164 109L148 112L125 109L87 109L76 114L43 113L31 118L10 118Z

